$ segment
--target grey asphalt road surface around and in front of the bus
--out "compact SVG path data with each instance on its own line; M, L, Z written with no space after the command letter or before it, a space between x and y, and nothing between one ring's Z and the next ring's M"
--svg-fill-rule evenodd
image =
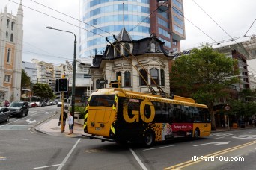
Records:
M135 143L118 145L34 131L37 123L55 114L55 110L60 107L32 108L27 117L0 124L0 169L256 168L256 128L212 133L203 139L176 140L144 148ZM192 160L195 156L197 161Z

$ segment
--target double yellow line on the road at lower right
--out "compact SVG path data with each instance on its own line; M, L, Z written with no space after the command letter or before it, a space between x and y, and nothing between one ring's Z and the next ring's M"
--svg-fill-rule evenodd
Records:
M252 142L245 143L245 144L243 144L243 145L237 145L237 146L234 146L234 147L232 147L232 148L227 148L227 149L224 149L224 150L222 150L222 151L216 151L216 152L214 152L214 153L212 153L212 154L207 154L207 155L205 155L204 157L210 157L210 156L215 157L215 156L217 156L217 155L225 154L225 153L228 153L228 152L230 152L230 151L234 151L234 150L237 150L237 149L240 149L240 148L249 146L249 145L253 145L253 144L255 144L255 143L256 143L256 140L255 140L255 141L252 141ZM196 160L196 161L194 161L194 160L188 160L188 161L186 161L186 162L179 163L179 164L174 165L174 166L169 166L169 167L164 168L164 169L182 169L182 168L184 168L184 167L186 167L186 166L191 166L192 164L200 163L200 162L201 162L201 161L200 161L199 159Z

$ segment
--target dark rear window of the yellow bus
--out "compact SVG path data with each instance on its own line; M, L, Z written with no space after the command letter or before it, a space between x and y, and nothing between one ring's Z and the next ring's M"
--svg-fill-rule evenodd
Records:
M89 105L91 107L112 107L115 102L115 95L92 95Z

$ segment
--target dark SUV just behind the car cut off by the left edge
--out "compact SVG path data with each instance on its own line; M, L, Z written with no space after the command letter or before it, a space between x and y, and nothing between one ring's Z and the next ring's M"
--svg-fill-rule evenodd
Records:
M8 109L10 110L10 116L28 116L28 101L13 101Z

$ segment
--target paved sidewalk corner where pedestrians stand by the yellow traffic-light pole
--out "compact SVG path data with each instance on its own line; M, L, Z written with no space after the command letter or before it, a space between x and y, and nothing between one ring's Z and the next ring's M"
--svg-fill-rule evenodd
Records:
M68 135L70 130L68 129L67 122L64 133L61 133L61 126L58 126L59 114L56 113L54 116L49 117L49 119L46 119L46 121L35 127L35 130L52 136L82 137L82 134L84 134L83 125L77 123L74 124L74 130L71 135Z

